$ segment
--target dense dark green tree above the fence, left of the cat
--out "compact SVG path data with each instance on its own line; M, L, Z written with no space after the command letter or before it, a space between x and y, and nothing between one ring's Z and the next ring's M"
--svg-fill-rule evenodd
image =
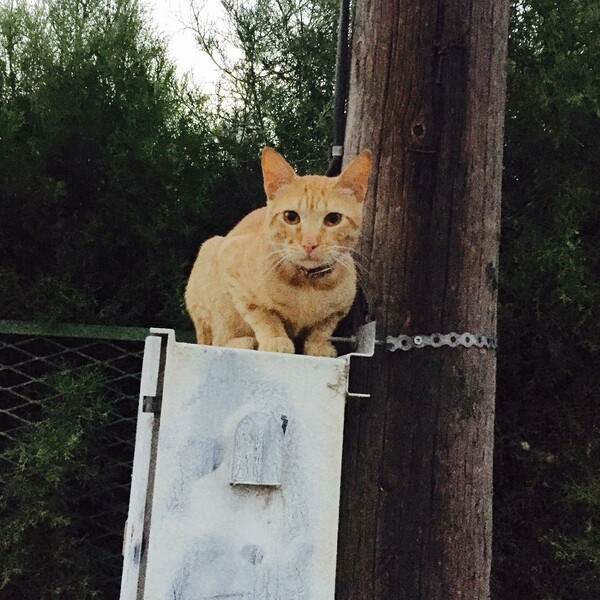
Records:
M187 323L219 157L137 2L3 2L0 98L3 317Z

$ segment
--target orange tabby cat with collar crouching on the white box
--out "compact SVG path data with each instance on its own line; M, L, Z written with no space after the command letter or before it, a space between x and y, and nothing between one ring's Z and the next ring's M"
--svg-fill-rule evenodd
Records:
M207 240L185 292L200 344L335 356L329 338L356 293L351 256L360 233L371 155L338 177L296 175L262 153L267 206Z

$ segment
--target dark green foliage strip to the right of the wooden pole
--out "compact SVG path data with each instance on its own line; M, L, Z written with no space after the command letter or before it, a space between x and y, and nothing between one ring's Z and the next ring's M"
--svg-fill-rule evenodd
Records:
M495 597L592 600L600 596L600 2L515 2L512 16Z

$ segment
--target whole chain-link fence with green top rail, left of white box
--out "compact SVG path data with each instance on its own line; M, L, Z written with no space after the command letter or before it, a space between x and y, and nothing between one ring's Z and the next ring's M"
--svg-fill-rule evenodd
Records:
M66 563L64 557L56 557L57 570L83 571L77 585L57 583L57 589L48 590L44 597L118 597L143 340L147 333L145 329L0 322L0 518L4 521L0 552L4 550L14 557L12 560L5 556L2 564L3 600L29 599L36 585L45 586L46 593L51 584L36 584L35 579L39 579L42 568L50 569L46 575L50 582L70 581L63 577L64 573L54 577L52 565L36 565L53 560L47 556L38 558L40 545L52 543L59 548L54 552L61 552L66 545L76 557ZM94 377L90 378L91 372ZM78 388L78 382L84 387ZM92 391L85 389L85 385L92 385L90 382L95 386ZM69 394L101 398L96 404L94 398L88 399L88 405L79 414L77 407L71 410L69 403L77 399ZM64 418L52 412L60 406L67 415ZM84 414L87 420L82 423ZM60 437L61 424L73 429L70 437L68 431ZM56 439L52 437L54 433ZM76 435L81 439L75 443ZM84 439L86 436L93 438L92 445ZM73 465L71 471L68 465ZM58 469L58 475L54 475L54 469ZM28 491L27 477L34 492ZM24 491L13 490L15 502L10 497L10 486L14 487L17 480ZM61 492L60 486L64 488L67 483L70 487ZM30 500L24 499L36 489L44 498L34 495ZM27 506L19 508L21 500ZM38 503L40 514L31 516ZM48 514L60 518L51 519ZM65 537L74 539L54 540L57 527L68 532ZM7 537L9 534L12 537ZM87 566L82 566L83 558L89 563ZM69 585L73 588L70 591ZM89 589L89 595L87 591L76 592L77 586L80 590Z

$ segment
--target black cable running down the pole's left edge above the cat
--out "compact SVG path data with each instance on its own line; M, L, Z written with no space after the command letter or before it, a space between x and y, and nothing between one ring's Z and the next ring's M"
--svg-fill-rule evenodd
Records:
M333 146L344 146L346 131L346 102L348 99L350 0L340 0L337 56L335 65L335 96L333 106ZM333 149L332 146L332 149ZM325 175L335 177L342 170L342 156L331 156Z

